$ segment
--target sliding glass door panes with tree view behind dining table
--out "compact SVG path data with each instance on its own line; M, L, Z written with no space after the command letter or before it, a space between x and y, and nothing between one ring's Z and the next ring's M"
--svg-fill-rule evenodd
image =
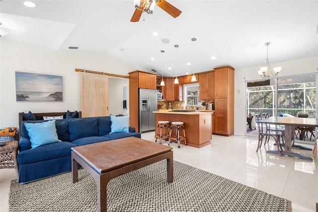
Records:
M277 80L278 115L288 114L296 117L298 112L303 112L308 113L309 118L316 118L316 74L280 77ZM275 83L274 80L266 81L267 83L247 83L247 114L275 114Z

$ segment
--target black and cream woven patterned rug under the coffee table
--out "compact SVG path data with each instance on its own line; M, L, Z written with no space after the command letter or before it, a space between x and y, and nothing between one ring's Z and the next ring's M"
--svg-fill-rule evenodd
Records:
M112 179L108 212L289 212L291 202L215 174L174 161L173 183L166 182L166 162ZM95 180L79 170L18 184L11 181L9 212L96 212Z

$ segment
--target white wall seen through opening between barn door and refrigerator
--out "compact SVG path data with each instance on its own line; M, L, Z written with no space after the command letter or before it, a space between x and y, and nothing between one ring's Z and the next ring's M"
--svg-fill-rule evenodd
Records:
M127 86L127 109L123 109L123 86ZM109 114L129 114L129 79L109 78Z

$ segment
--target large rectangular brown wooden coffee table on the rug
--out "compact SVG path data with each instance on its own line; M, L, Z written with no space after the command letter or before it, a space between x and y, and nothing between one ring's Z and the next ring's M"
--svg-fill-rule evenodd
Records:
M72 147L72 182L78 179L78 163L97 182L98 212L107 211L107 184L117 176L167 160L167 182L173 182L172 147L129 137Z

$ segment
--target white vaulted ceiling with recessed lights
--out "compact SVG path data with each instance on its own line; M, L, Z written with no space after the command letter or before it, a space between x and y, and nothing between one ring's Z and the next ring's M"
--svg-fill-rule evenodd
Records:
M133 0L34 0L34 8L21 0L1 0L0 21L10 30L3 38L108 52L136 70L161 75L163 67L164 76L265 65L265 42L271 42L270 63L318 56L317 0L167 1L182 11L179 17L156 6L153 14L130 22Z

